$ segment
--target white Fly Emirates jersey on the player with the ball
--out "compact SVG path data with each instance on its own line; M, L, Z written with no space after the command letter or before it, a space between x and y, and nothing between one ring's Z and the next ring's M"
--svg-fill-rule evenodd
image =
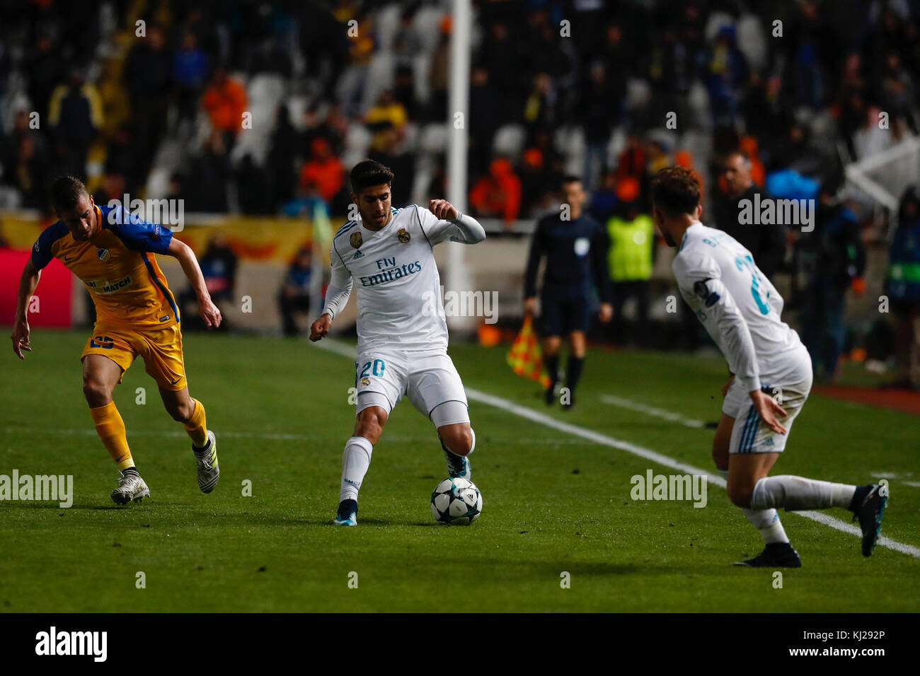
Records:
M335 319L351 288L358 293L358 351L447 349L441 277L431 247L454 238L458 226L412 204L393 209L374 232L361 215L345 223L332 240L332 281L326 309ZM333 290L341 290L338 297Z

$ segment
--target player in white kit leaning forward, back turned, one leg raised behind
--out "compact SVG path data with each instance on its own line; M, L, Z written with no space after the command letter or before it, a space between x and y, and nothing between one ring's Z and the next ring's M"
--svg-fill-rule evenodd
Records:
M700 223L699 183L681 166L652 181L652 218L668 246L679 246L674 277L684 301L716 341L731 372L712 456L727 477L729 498L764 538L764 551L738 566L800 567L777 507L853 512L862 553L878 540L887 490L802 476L767 476L811 390L811 359L799 334L780 319L783 299L751 252ZM679 243L679 245L678 245Z

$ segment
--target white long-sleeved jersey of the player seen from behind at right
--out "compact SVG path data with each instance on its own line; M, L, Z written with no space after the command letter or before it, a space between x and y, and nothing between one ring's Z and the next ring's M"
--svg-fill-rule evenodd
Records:
M747 392L811 373L799 334L780 319L782 296L733 237L703 223L691 225L672 269L684 301Z

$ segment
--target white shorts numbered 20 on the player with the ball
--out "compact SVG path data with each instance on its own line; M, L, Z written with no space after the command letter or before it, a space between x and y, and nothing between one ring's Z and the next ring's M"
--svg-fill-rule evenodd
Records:
M356 413L379 406L389 415L403 395L408 395L412 405L429 419L431 411L442 404L459 402L462 407L453 407L457 413L448 419L439 417L439 422L469 422L463 382L444 351L368 350L358 355L354 367Z

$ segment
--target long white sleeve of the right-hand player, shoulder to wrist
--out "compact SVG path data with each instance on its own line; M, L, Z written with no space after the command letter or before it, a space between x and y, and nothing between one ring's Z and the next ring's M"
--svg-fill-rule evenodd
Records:
M759 390L760 369L751 331L728 287L719 279L719 266L707 258L698 268L690 269L684 258L675 258L673 270L684 298L696 297L701 305L703 326L722 349L735 380L745 392Z

